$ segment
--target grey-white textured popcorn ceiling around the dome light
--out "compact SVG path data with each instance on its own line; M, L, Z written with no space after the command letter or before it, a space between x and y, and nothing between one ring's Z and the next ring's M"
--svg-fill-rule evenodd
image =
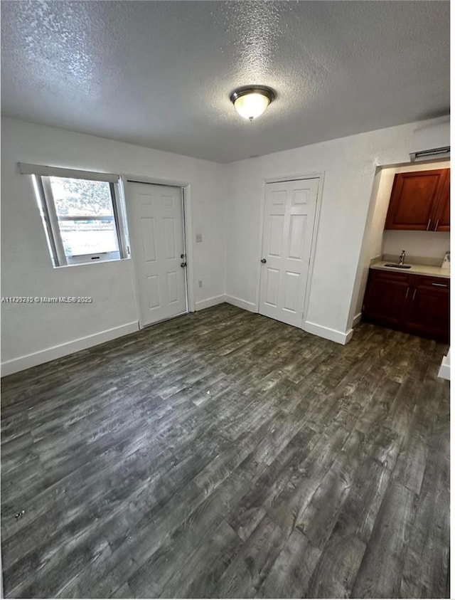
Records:
M218 162L449 112L444 0L6 0L1 34L4 115Z

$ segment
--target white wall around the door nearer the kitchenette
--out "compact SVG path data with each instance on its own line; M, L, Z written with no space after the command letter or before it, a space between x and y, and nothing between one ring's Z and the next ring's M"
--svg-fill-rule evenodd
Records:
M419 127L429 123L420 122ZM360 259L376 168L409 162L416 127L390 127L228 164L227 297L252 310L257 307L264 180L323 173L306 327L337 341L348 340L364 271Z

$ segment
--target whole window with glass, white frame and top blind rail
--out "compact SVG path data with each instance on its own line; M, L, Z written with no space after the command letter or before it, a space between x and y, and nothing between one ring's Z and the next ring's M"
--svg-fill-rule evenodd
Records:
M54 266L127 257L118 176L36 165L19 167L21 172L33 171Z

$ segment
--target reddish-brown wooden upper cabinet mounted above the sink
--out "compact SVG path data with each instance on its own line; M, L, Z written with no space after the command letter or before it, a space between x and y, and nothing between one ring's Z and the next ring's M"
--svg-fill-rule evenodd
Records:
M397 173L385 229L449 231L450 169Z

